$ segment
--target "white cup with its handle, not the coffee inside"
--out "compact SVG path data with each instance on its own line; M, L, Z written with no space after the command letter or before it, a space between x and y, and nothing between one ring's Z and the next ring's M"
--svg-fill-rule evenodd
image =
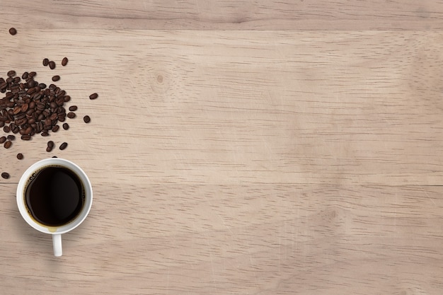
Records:
M79 212L79 214L74 219L69 221L67 224L63 224L62 226L46 226L44 224L40 224L38 221L35 221L35 219L33 219L33 217L30 215L30 212L26 205L25 191L30 178L33 176L33 173L35 173L35 171L40 170L41 168L47 166L62 166L64 168L71 170L79 177L85 190L84 205L81 209L81 212ZM84 173L84 170L81 170L79 166L72 163L71 161L65 160L63 158L46 158L31 165L27 170L25 170L25 173L23 173L23 175L21 176L21 179L18 182L18 187L17 187L17 206L18 210L21 213L21 216L23 216L23 219L25 219L25 221L30 226L32 226L34 229L37 229L38 231L41 231L42 233L49 233L52 235L52 245L54 248L54 255L57 257L62 256L62 233L67 233L68 231L72 231L77 226L79 226L84 221L84 219L86 219L86 216L88 216L88 213L91 210L92 206L91 182L89 181L86 173Z

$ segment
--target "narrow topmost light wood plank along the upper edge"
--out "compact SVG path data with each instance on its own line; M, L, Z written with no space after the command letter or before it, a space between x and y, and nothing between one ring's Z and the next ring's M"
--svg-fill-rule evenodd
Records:
M28 28L441 30L435 0L1 1L4 23ZM32 11L32 13L30 13Z

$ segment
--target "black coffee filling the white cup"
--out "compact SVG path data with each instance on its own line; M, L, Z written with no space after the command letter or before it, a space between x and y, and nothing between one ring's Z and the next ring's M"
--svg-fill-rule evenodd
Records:
M62 226L73 220L84 205L79 177L60 166L47 166L30 178L25 201L33 218L46 226Z

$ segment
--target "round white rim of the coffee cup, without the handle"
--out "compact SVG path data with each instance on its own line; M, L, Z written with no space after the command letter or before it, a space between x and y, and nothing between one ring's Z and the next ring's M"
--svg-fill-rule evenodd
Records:
M30 178L35 170L50 165L59 165L73 170L76 175L79 176L81 182L84 184L86 195L86 203L84 204L84 208L81 210L80 214L76 216L75 219L69 221L68 224L64 224L63 226L45 226L38 223L33 218L31 218L30 214L28 214L28 209L26 209L25 205L24 189L25 183L28 181L28 178ZM93 192L91 181L89 180L88 175L86 175L84 170L76 165L76 163L73 163L64 158L45 158L33 163L31 166L28 167L28 169L25 170L23 175L21 175L21 178L18 181L17 185L16 199L18 211L20 212L23 219L25 219L26 223L28 223L34 229L41 231L42 233L62 234L67 233L68 231L72 231L77 226L79 226L84 221L84 219L86 219L86 216L88 216L89 211L92 207Z

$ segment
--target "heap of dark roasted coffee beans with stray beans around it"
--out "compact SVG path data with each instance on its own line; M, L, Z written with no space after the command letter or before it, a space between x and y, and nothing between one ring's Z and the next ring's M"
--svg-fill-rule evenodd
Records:
M16 35L17 30L10 28L9 33ZM62 66L68 64L68 58L62 59ZM43 66L49 66L50 69L56 68L53 60L45 58L42 60ZM66 91L54 83L47 86L45 83L39 83L35 80L37 73L35 71L25 71L21 76L17 76L16 71L11 70L6 74L6 78L0 77L0 93L4 97L0 98L0 128L3 128L4 136L0 137L0 144L5 149L10 149L16 135L20 139L29 141L37 134L47 137L51 133L59 131L59 124L62 124L64 130L69 129L67 117L74 119L76 105L69 107L69 112L64 108L65 103L71 100ZM59 75L52 76L52 82L57 82L61 78ZM98 98L97 93L92 93L89 99ZM91 122L91 117L84 116L84 122ZM12 134L11 134L12 133ZM16 134L16 135L14 135ZM68 143L60 144L59 149L67 149ZM46 151L54 149L54 141L47 141ZM54 156L55 157L55 156ZM23 154L17 154L18 160L24 158ZM8 179L9 173L1 173L1 177Z

